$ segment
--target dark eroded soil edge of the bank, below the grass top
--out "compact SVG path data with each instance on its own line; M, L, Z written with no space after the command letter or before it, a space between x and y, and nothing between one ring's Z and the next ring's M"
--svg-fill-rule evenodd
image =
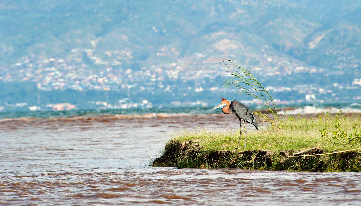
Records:
M343 152L321 156L291 157L295 155L322 154L322 148L308 148L300 152L251 150L251 151L204 151L197 140L166 144L161 157L152 166L178 168L225 168L239 167L258 170L287 170L309 172L356 172L361 171L361 152Z

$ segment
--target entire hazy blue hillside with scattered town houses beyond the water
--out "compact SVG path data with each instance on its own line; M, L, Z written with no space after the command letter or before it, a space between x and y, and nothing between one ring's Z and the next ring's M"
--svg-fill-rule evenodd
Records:
M0 106L251 101L222 59L285 104L357 102L360 19L359 0L2 1Z

